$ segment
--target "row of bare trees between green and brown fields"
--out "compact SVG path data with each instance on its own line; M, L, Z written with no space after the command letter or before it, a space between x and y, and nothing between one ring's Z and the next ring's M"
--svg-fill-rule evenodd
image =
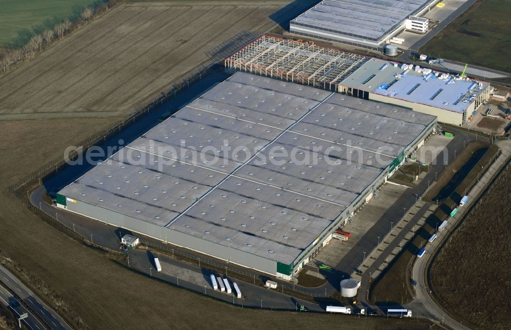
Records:
M65 19L55 24L53 29L44 30L41 34L36 34L22 47L9 49L5 54L0 54L0 73L6 74L13 69L16 64L25 59L29 59L35 54L48 48L52 43L62 39L65 35L79 29L90 20L106 13L111 8L117 6L124 0L108 0L96 8L85 8L80 17L75 21Z

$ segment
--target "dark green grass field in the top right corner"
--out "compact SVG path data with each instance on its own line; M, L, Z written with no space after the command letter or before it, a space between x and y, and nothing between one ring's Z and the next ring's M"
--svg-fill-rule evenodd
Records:
M480 0L421 49L423 54L511 72L511 1Z

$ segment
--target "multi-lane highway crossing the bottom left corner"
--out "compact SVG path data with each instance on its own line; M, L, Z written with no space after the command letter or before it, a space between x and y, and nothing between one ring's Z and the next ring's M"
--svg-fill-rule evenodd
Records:
M40 319L43 320L52 329L72 329L54 310L44 301L35 295L24 283L17 279L9 270L0 265L0 280L4 282L16 295L25 302ZM30 311L28 311L20 302L5 288L0 287L0 298L11 306L18 315L28 313L29 317L24 319L27 327L30 329L46 328Z

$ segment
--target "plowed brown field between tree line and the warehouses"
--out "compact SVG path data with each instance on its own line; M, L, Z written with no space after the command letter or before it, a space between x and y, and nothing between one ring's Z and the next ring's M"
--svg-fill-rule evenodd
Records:
M121 5L0 78L0 119L131 112L212 64L208 52L239 32L271 29L289 3Z

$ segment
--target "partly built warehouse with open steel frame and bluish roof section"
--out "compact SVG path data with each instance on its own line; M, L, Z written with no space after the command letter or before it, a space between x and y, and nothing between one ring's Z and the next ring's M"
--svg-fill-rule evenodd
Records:
M264 35L225 59L227 70L318 86L434 115L462 125L490 97L490 84L377 58Z

